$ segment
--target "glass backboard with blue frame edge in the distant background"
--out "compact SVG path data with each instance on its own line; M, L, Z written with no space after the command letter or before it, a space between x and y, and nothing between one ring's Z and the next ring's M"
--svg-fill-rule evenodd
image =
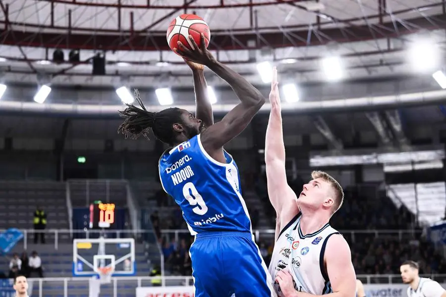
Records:
M97 238L73 241L73 276L99 276L99 270L104 267L111 267L111 276L135 275L135 240Z

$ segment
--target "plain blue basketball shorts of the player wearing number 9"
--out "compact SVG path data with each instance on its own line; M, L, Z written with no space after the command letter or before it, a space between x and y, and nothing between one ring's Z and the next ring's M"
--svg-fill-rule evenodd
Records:
M277 296L250 233L200 233L190 256L196 297Z

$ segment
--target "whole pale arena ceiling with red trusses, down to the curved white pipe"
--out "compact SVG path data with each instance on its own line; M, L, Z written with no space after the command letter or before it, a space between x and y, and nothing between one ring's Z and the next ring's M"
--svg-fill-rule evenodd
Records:
M172 87L174 104L192 110L190 70L166 41L168 24L181 13L202 16L211 51L266 96L256 65L277 65L282 84L301 87L301 101L283 105L293 112L446 99L432 72L415 70L408 56L412 45L430 39L441 51L438 69L445 65L445 0L0 0L0 9L0 82L8 85L1 111L116 116L122 105L114 89L123 85L141 89L151 110L164 108L153 89ZM56 49L64 62L53 61ZM80 62L68 62L71 50ZM105 75L92 75L97 53L105 54ZM321 62L333 55L343 78L329 83ZM237 99L221 79L206 76L220 94L214 110L228 111ZM42 84L53 91L38 104L33 96Z

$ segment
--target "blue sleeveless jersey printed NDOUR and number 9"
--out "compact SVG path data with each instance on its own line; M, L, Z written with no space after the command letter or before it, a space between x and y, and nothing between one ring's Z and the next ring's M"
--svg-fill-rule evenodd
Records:
M163 189L180 206L192 235L205 231L251 232L237 165L226 151L224 157L226 164L214 160L197 135L160 158Z

